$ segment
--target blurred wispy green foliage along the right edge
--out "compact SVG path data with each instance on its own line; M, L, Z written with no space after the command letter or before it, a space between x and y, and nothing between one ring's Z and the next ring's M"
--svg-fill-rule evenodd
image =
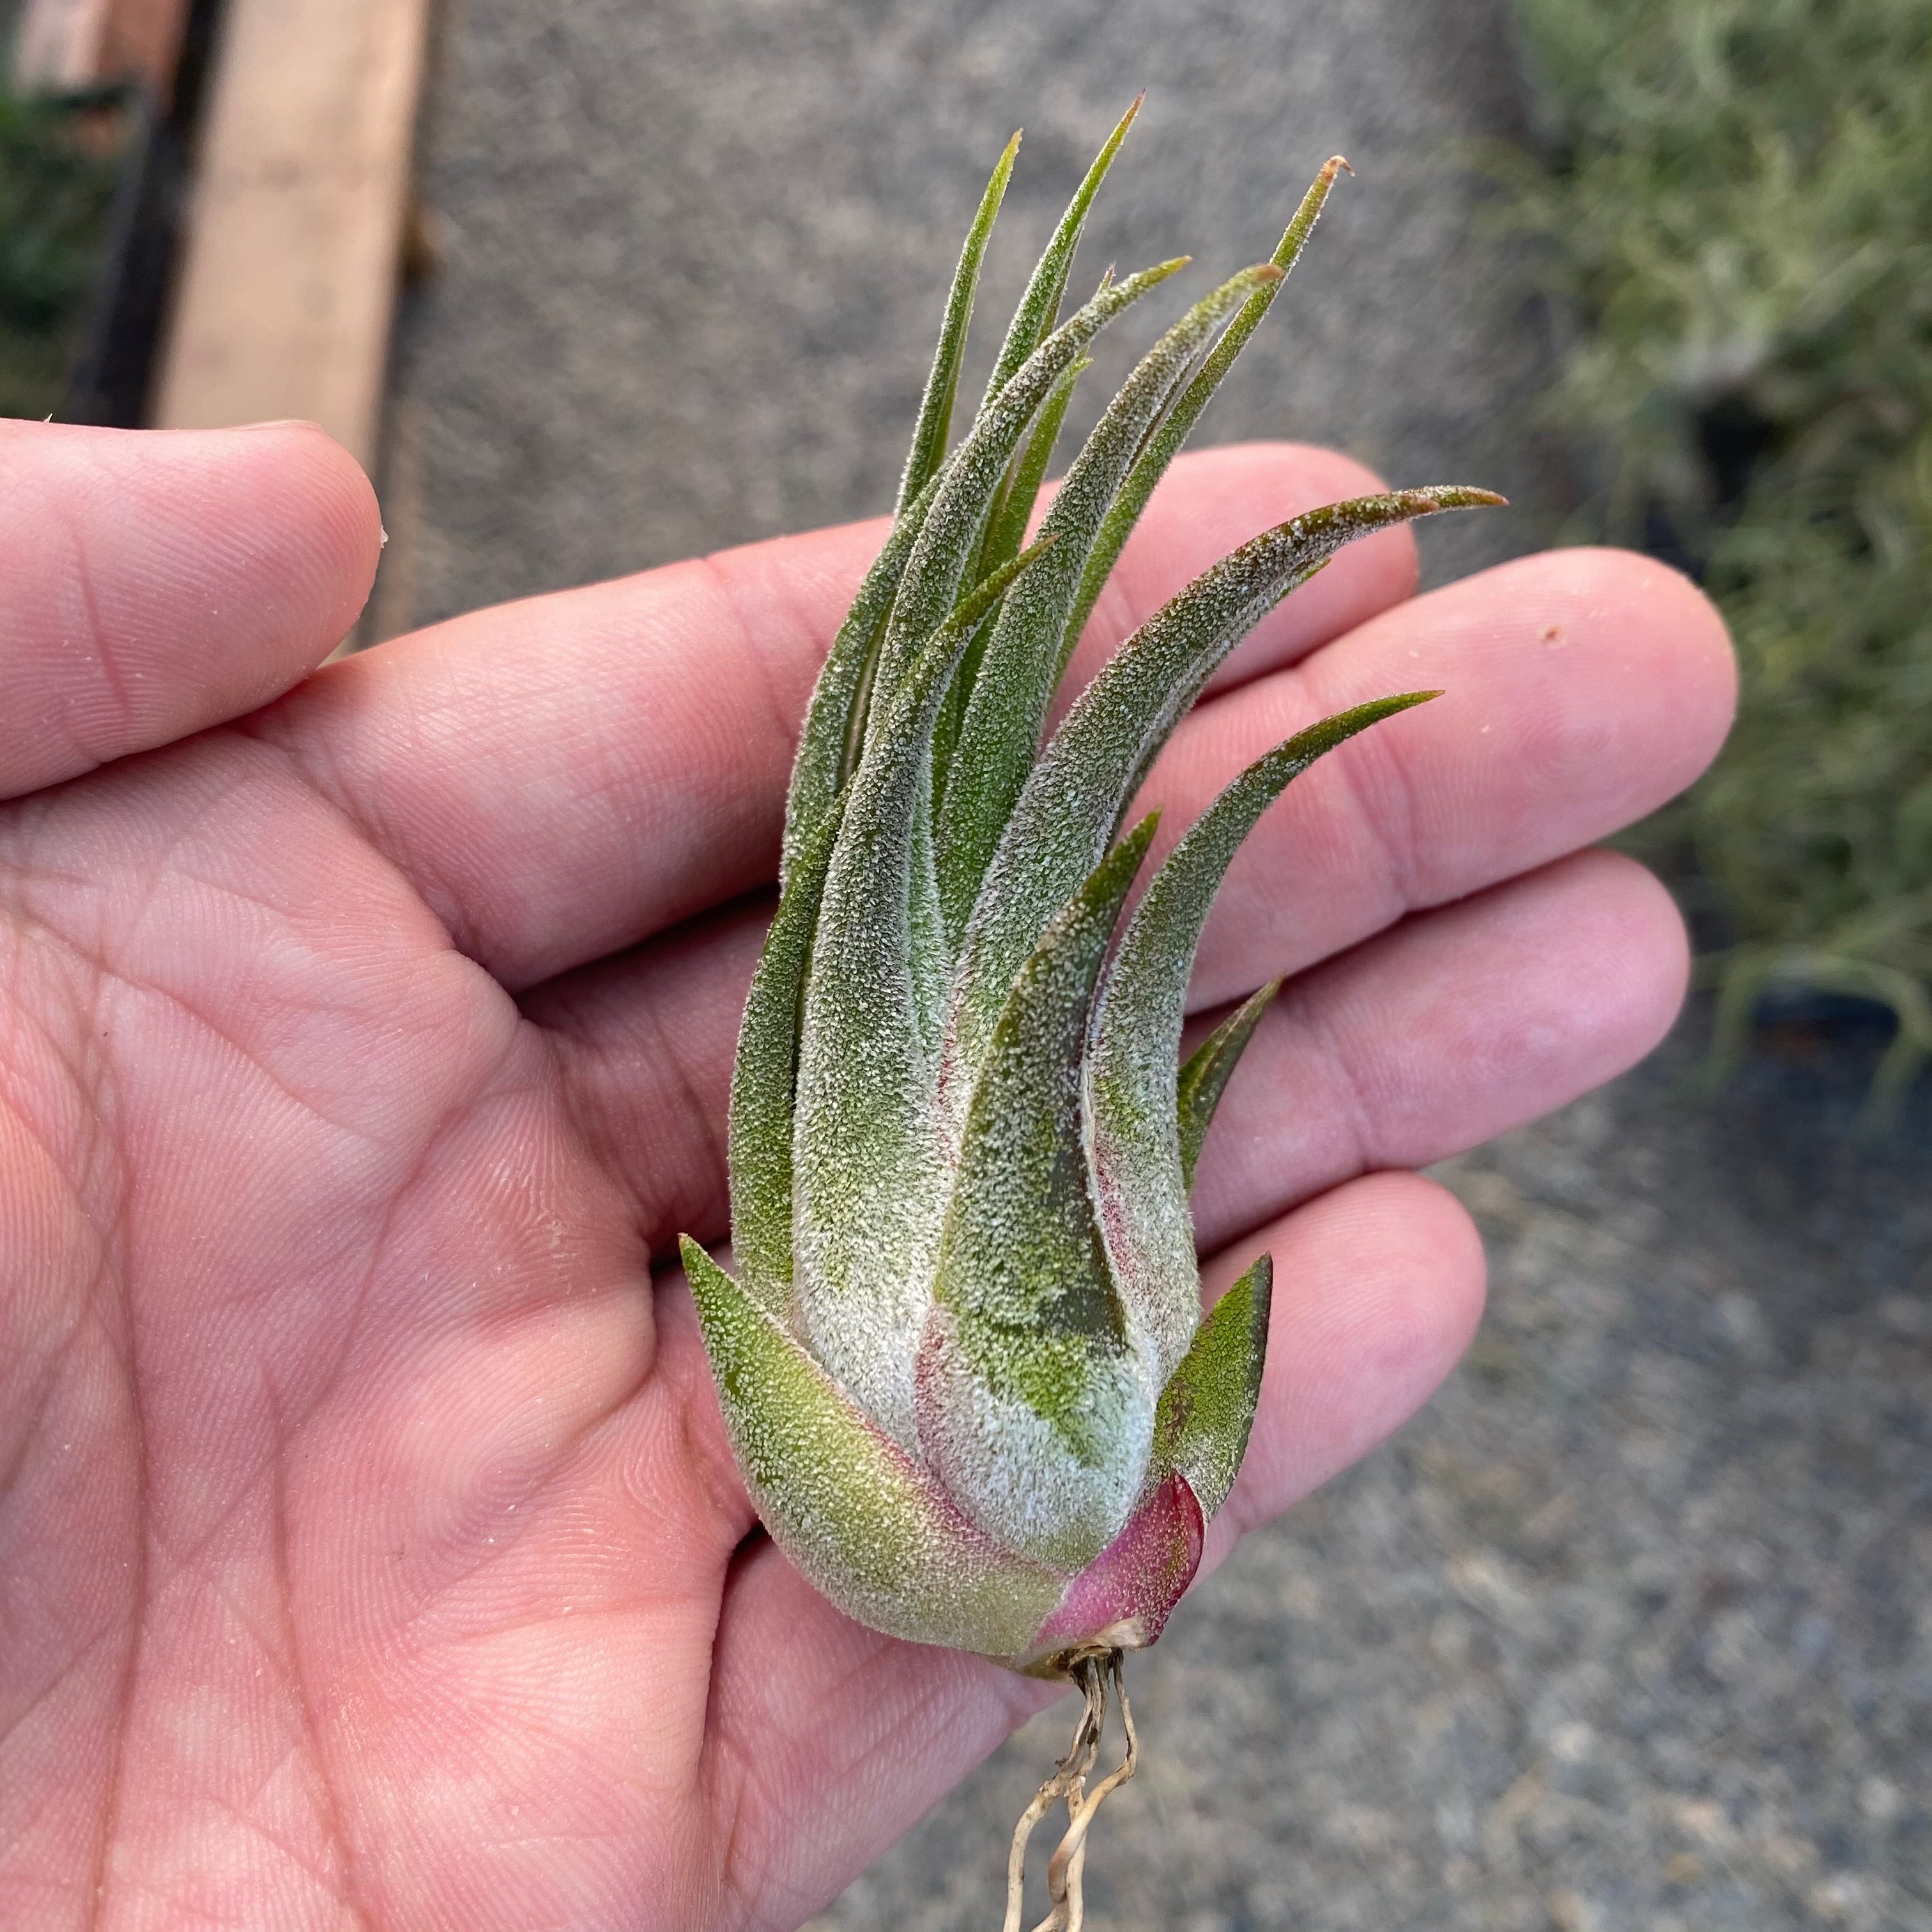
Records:
M1882 999L1932 1055L1932 6L1519 0L1548 112L1511 222L1575 325L1553 417L1588 522L1687 562L1743 709L1656 831L1770 985Z

